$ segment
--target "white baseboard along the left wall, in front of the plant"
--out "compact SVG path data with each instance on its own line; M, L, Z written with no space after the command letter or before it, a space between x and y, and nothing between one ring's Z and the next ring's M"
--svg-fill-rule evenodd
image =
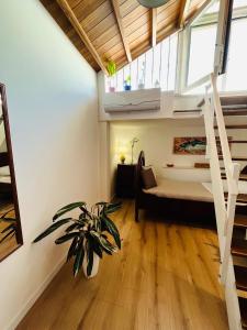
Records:
M11 320L10 324L7 327L7 330L14 330L18 327L18 324L21 322L21 320L24 318L24 316L27 314L27 311L31 309L31 307L34 305L37 298L43 294L45 288L48 286L48 284L52 282L52 279L59 272L59 270L64 264L65 264L65 257L63 257L57 263L53 272L48 274L48 276L46 276L45 280L40 285L40 287L34 292L34 294L31 295L27 302L21 308L18 315Z

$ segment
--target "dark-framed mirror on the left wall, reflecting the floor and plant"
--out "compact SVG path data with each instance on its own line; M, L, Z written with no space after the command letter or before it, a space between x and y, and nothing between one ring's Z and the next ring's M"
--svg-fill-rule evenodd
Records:
M4 85L0 84L0 261L22 243L7 95Z

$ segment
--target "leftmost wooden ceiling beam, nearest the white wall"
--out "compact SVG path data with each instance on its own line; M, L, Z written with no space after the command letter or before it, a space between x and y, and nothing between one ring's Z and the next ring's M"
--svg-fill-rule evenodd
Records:
M77 16L75 15L74 11L71 10L70 6L68 4L67 0L56 0L60 9L64 11L65 15L85 43L86 47L89 50L89 52L92 54L93 58L102 69L104 74L108 75L108 70L100 57L100 55L97 53L97 50L92 45L91 41L89 40L87 33L85 32L83 28L81 26L80 22L78 21Z

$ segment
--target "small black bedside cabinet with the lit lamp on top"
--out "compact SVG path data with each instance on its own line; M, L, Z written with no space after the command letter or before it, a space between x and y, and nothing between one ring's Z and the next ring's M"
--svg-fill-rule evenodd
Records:
M134 197L135 196L135 174L136 164L119 164L116 172L116 196Z

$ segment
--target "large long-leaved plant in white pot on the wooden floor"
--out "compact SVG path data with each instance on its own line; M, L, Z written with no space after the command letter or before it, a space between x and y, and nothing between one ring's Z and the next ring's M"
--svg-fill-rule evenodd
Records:
M85 201L69 204L59 209L53 217L53 224L42 232L34 243L43 240L58 228L66 226L61 237L55 240L56 244L71 241L67 253L67 262L74 258L74 276L81 267L86 277L93 277L98 273L99 258L103 253L112 255L121 249L120 233L109 215L120 209L121 204L97 202L89 210ZM78 209L77 218L66 217L66 213ZM63 219L61 219L63 217ZM110 241L113 239L114 243Z

